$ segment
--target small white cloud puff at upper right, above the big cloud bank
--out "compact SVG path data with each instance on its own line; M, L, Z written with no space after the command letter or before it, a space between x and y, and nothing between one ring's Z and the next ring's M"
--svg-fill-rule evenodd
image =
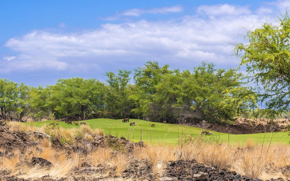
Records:
M197 12L206 15L240 15L240 14L250 14L248 6L235 6L229 4L219 4L219 5L203 5L197 8Z

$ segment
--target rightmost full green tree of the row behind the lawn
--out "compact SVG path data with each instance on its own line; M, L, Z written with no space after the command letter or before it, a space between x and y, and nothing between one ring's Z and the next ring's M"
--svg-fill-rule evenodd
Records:
M233 120L237 113L245 112L247 102L243 97L233 96L234 90L243 87L243 75L234 69L216 69L213 63L202 62L193 69L183 72L180 115L186 119L214 122ZM236 102L239 102L236 103Z

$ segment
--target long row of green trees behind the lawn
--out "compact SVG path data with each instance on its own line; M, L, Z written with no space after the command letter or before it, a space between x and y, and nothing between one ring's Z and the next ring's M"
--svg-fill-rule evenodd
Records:
M106 83L95 78L59 79L46 87L0 79L2 119L35 121L59 118L146 118L219 122L255 107L255 95L235 69L216 69L202 62L192 70L169 69L146 62L131 71L106 72Z

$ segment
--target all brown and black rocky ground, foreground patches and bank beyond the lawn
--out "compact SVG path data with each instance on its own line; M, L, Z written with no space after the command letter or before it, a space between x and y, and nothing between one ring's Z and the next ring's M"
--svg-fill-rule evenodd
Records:
M255 123L251 123L255 124ZM245 127L243 129L240 129L239 126L232 125L230 129L235 130L234 133L253 133L253 132L259 132L262 129L268 128L267 125L264 125L263 127L259 126L260 124L257 124L255 127L252 125L249 125L248 123L239 123L236 125L248 125L248 127ZM277 124L277 127L280 127L280 125ZM260 128L261 127L261 128ZM216 131L221 131L218 129L222 129L221 127L213 126L208 127L212 129L216 129ZM236 129L234 129L236 128ZM250 129L251 128L251 129ZM250 131L247 131L247 129L250 129ZM269 125L270 129L270 125ZM272 128L271 128L272 129ZM132 143L129 140L126 140L124 137L117 138L116 136L112 135L106 135L106 136L100 136L97 134L92 134L93 140L90 142L90 144L94 146L103 146L106 144L107 146L110 146L110 144L121 144L124 145L125 150L130 155L130 151L135 146L138 147L146 147L146 145L143 142L139 143ZM5 151L4 153L0 151L0 156L3 157L12 157L13 153L9 152L9 149L25 149L29 146L35 146L36 149L40 149L37 147L37 142L30 139L30 135L18 131L18 132L11 132L7 128L0 126L0 146L7 146L8 151ZM70 145L62 145L60 140L55 137L52 141L52 144L57 149L66 149L68 154L70 151L81 151L81 147L78 146L70 146ZM83 150L85 153L86 150ZM23 154L21 152L20 154ZM112 154L118 154L117 151ZM25 160L25 159L24 159ZM30 160L26 160L25 162L20 162L18 164L26 164L26 165L41 165L44 168L51 168L53 167L52 163L50 163L48 160L45 160L43 158L39 157L33 157ZM222 169L219 170L215 166L213 167L207 167L205 165L197 163L195 160L191 161L184 161L184 160L175 160L170 161L165 166L165 172L163 175L156 175L153 173L152 168L149 166L150 164L147 163L146 160L135 160L130 163L130 165L127 165L127 169L124 170L121 175L116 176L115 171L116 168L112 167L110 168L109 174L103 174L104 168L103 165L97 165L96 167L91 166L87 162L83 162L80 164L79 167L74 167L71 170L71 173L65 177L54 179L50 175L44 175L41 178L29 178L24 179L19 177L18 175L11 175L11 172L9 170L1 169L0 170L0 180L8 180L8 181L32 181L32 180L40 180L40 181L62 181L62 180L75 180L75 181L81 181L81 180L142 180L142 181L153 181L153 180L160 180L160 181L166 181L166 180L178 180L178 181L186 181L186 180L204 180L204 181L218 181L218 180L236 180L236 181L252 181L252 180L260 180L259 178L248 178L246 176L237 174L234 171ZM279 169L282 173L290 173L290 166L287 165L283 168L276 168ZM106 175L106 176L105 176ZM274 180L283 180L282 178L278 179L271 179L271 181Z

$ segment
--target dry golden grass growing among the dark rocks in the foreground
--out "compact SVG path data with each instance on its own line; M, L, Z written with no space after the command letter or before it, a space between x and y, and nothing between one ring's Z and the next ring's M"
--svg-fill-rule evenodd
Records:
M43 127L25 126L19 122L8 122L8 126L11 127L10 130L45 131ZM71 140L72 144L86 149L91 148L89 144L85 144L85 142L93 140L91 134L104 135L103 130L92 130L87 125L81 125L75 129L60 128L59 132L65 140ZM75 139L76 137L85 141ZM198 136L192 140L187 140L182 148L181 146L162 144L149 145L146 148L136 147L133 153L129 154L122 151L116 152L113 148L98 147L85 156L80 152L68 154L64 150L57 150L52 147L47 138L38 141L40 143L38 147L42 148L42 151L31 147L24 151L24 154L20 154L20 150L13 150L14 156L0 157L0 168L10 170L11 175L23 178L37 178L47 174L53 178L61 178L70 175L72 168L80 167L86 161L93 167L102 167L103 171L96 173L96 175L101 174L112 177L111 180L118 180L119 178L113 177L121 176L123 171L137 160L142 164L142 167L149 166L153 176L158 179L166 172L165 167L168 161L195 159L198 163L227 168L248 177L260 177L263 180L278 177L285 180L290 178L290 174L284 173L283 175L278 169L290 165L290 146L288 144L273 144L271 146L264 144L262 149L261 145L253 143L251 140L248 140L245 146L235 146L204 142L202 136ZM0 148L0 150L5 151L4 148ZM31 166L28 162L33 156L44 158L54 166L49 170L41 168L40 165ZM128 178L128 180L130 179Z

